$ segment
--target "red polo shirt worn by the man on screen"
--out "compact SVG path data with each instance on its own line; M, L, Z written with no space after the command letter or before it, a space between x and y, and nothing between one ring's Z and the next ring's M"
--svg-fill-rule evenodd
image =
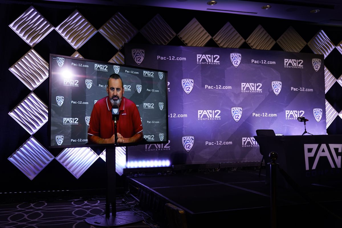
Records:
M116 121L117 132L129 138L142 132L143 127L136 105L126 97L122 97L119 107L119 119ZM114 134L114 120L111 114L111 103L108 96L98 100L91 112L88 134L101 138L110 138Z

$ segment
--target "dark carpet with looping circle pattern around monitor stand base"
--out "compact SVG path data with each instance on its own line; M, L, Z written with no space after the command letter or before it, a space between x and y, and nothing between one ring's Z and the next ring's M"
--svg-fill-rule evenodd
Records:
M159 227L146 213L139 210L134 198L119 196L116 198L117 214L130 211L134 216L140 216L134 222L115 227ZM105 197L59 199L48 201L27 201L0 205L0 227L5 228L96 228L85 219L105 217ZM117 223L115 223L117 224Z

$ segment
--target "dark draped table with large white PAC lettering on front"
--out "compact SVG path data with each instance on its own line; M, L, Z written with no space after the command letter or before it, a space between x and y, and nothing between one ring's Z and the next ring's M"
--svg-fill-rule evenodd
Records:
M342 135L254 136L266 164L269 182L269 153L278 154L276 163L299 186L341 181ZM277 172L277 183L288 188Z

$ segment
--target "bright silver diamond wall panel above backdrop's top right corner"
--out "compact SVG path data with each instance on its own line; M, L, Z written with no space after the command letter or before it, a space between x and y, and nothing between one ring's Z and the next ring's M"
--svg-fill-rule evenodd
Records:
M323 30L317 32L317 34L307 43L307 45L315 54L324 55L324 58L326 58L335 48L335 45L331 42Z

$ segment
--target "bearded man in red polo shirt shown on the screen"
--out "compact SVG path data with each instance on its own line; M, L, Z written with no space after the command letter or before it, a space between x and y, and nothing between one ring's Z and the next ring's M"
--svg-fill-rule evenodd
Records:
M91 112L88 143L109 144L115 143L114 120L112 106L119 107L117 119L117 143L135 143L143 138L143 127L140 113L136 105L124 97L124 88L121 77L112 74L107 82L108 96L98 100Z

